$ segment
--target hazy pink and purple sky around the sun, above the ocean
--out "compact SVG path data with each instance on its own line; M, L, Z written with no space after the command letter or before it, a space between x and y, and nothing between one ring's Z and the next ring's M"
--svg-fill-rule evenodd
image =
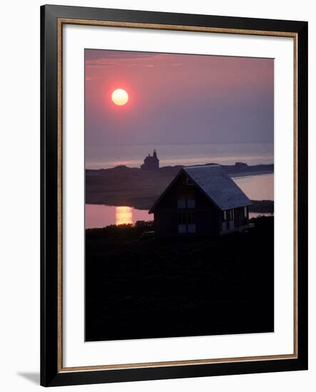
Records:
M87 150L273 141L273 59L86 49L85 73Z

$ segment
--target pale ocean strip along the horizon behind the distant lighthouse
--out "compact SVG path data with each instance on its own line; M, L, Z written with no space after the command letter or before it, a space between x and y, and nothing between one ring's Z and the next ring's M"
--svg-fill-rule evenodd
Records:
M205 143L171 145L111 145L86 148L86 168L100 169L118 165L140 167L143 159L156 148L160 167L219 163L248 165L273 163L273 143Z

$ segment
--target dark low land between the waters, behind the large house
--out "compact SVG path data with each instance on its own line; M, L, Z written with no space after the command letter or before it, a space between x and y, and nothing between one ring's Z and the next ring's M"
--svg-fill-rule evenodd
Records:
M213 165L213 164L209 164ZM157 171L117 166L111 169L86 170L86 203L126 205L149 210L183 166L160 167ZM230 177L272 173L274 165L248 166L245 163L222 166ZM250 211L273 212L273 202L259 201Z

